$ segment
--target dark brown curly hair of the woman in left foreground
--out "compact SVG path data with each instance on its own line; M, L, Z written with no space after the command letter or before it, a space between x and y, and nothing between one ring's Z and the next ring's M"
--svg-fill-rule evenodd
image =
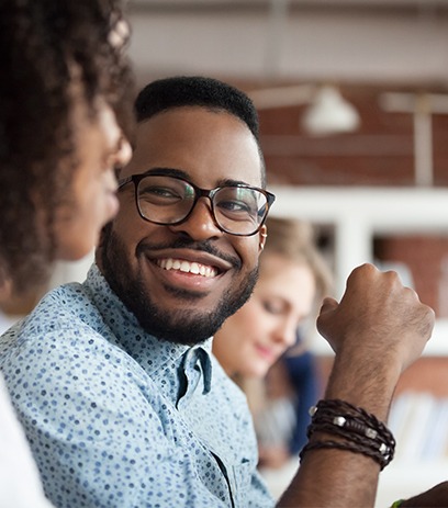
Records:
M0 284L18 292L47 278L55 211L70 201L74 67L92 118L102 97L133 127L123 26L120 0L0 0Z

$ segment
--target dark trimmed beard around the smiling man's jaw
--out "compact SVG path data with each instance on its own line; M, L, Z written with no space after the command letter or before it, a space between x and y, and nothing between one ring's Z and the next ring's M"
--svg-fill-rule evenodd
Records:
M209 241L198 244L194 240L181 239L176 246L170 247L186 246L216 253ZM258 279L256 267L239 285L231 284L212 311L204 312L191 311L187 305L200 300L200 293L166 286L166 291L186 302L184 311L173 311L157 305L157 297L153 297L142 283L144 278L139 271L132 274L124 245L113 232L112 223L103 228L99 253L105 280L127 309L135 315L142 328L158 339L186 346L194 346L212 337L224 320L247 302ZM234 259L232 261L240 269L239 260L237 263Z

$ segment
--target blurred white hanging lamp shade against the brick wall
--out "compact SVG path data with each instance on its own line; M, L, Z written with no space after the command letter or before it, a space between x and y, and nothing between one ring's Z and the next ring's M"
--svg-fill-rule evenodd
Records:
M305 109L301 125L311 135L326 136L356 131L360 125L360 117L336 87L324 84Z

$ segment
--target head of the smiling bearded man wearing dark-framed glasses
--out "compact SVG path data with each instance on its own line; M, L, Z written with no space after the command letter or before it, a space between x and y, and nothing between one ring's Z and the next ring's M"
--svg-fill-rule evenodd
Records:
M211 83L191 82L205 100ZM97 259L146 331L194 345L249 297L273 196L261 189L265 168L255 121L253 132L225 110L227 102L236 108L232 101L248 108L247 99L214 84L221 110L195 105L199 98L192 95L191 106L148 113L144 105L166 87L153 83L141 93L136 150L121 174L123 213L105 229ZM184 90L182 101L188 97Z

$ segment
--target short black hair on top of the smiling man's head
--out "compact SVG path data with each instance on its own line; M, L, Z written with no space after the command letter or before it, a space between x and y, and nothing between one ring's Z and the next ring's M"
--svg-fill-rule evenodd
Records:
M257 142L261 161L261 187L266 187L258 113L246 93L232 84L204 76L163 78L150 82L138 93L135 114L137 122L144 122L164 111L183 106L227 112L244 122Z

